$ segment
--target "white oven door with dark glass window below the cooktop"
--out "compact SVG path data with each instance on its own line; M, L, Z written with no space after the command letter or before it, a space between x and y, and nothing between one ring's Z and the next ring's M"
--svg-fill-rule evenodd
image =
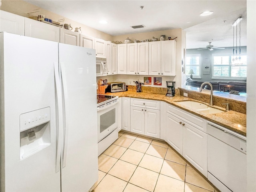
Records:
M118 102L98 108L98 142L118 127Z

